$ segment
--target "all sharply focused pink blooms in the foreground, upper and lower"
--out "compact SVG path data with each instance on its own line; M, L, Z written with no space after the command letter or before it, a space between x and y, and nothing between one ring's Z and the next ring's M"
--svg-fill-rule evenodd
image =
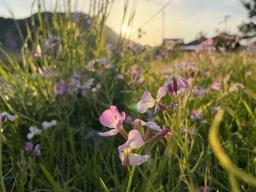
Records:
M186 79L180 76L166 76L166 83L158 89L158 96L156 99L152 98L149 91L144 91L142 99L138 102L138 112L145 113L149 108L155 107L155 113L160 110L166 110L167 107L160 102L161 98L169 95L177 95L178 90L186 89L188 82ZM116 106L110 106L110 109L105 110L99 117L99 121L103 126L109 127L111 130L106 132L98 132L101 137L110 137L116 134L121 134L122 138L126 140L124 144L118 146L119 158L121 159L122 166L138 166L150 159L150 155L134 154L135 149L140 149L146 143L154 142L157 139L166 137L170 134L170 129L160 127L155 122L144 122L142 119L136 118L131 121L134 126L133 130L130 130L127 134L123 123L130 122L125 121L126 114L118 111ZM141 127L146 127L146 131L142 131Z

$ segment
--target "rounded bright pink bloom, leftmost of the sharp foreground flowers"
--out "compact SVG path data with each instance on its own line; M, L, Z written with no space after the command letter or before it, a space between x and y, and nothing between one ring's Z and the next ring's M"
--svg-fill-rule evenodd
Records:
M98 132L101 137L110 137L118 134L122 129L122 122L126 119L125 112L119 114L118 108L116 106L110 106L110 110L105 110L99 117L99 121L103 126L112 128L113 130L106 131L104 133Z

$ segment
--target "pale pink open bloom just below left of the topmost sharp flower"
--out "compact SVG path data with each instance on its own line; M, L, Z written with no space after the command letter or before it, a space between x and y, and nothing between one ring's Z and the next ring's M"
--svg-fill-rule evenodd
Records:
M138 112L143 114L149 108L155 106L154 113L158 113L159 110L166 110L166 106L164 106L160 99L164 97L167 93L167 87L162 86L158 90L157 99L152 98L149 91L145 90L144 94L142 95L142 99L138 102Z

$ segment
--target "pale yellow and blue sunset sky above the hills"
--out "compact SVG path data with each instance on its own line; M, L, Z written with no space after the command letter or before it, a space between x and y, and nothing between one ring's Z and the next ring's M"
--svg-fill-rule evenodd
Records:
M161 44L162 38L183 38L185 42L190 42L199 32L203 32L208 38L217 34L217 30L226 30L235 34L238 33L238 26L248 21L246 9L242 6L241 0L127 1L129 3L125 23L122 23L122 15L126 1L115 0L106 25L120 33L121 29L125 28L123 26L127 25L127 19L135 11L134 20L126 36L135 42L150 46ZM11 17L11 11L14 18L26 18L36 12L36 6L32 7L33 2L34 0L0 0L0 16ZM46 10L53 10L54 1L42 2L45 3ZM59 2L61 2L60 9L63 10L64 0ZM90 1L73 0L73 2L74 10L86 12ZM162 11L156 14L167 2L170 2L170 5L164 9L164 17ZM150 19L154 14L156 16ZM224 22L225 15L229 15L226 22ZM147 22L149 19L150 21ZM143 34L138 38L138 29L141 27Z

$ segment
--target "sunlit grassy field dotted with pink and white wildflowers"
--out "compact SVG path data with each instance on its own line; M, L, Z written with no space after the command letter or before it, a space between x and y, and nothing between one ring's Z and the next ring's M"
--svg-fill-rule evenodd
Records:
M108 9L1 49L0 191L256 191L253 50L109 46Z

